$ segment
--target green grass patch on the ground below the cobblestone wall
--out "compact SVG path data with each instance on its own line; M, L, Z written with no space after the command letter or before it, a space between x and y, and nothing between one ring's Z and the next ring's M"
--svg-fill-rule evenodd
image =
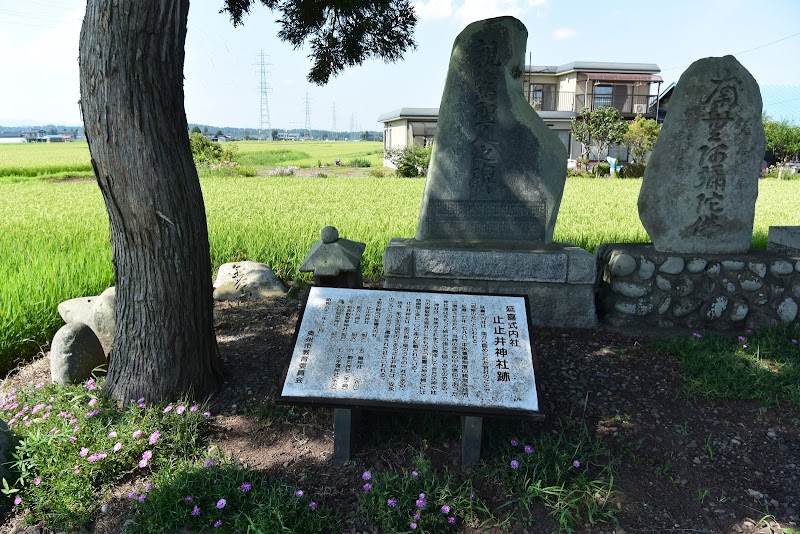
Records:
M704 335L653 342L679 358L684 387L711 400L800 405L800 327L745 330L736 337ZM709 456L713 454L710 447Z

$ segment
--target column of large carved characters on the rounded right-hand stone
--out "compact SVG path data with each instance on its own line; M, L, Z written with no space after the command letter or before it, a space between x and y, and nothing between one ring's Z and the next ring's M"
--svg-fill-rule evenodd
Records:
M721 215L725 198L729 147L722 142L722 130L733 119L739 104L735 77L713 80L714 88L703 100L702 120L708 127L706 143L700 147L697 184L697 220L687 229L692 235L714 235L723 230Z

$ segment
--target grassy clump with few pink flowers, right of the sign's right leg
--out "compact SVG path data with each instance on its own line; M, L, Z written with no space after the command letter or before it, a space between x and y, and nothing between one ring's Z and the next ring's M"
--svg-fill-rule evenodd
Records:
M555 435L511 440L482 475L504 488L506 504L516 504L528 520L535 519L535 504L544 505L562 532L615 520L612 464L585 421L565 419Z

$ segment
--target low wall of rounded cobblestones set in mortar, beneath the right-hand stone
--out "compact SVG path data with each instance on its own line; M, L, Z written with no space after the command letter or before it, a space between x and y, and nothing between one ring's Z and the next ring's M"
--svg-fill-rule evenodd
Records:
M800 256L605 244L596 257L598 311L607 324L729 330L800 322Z

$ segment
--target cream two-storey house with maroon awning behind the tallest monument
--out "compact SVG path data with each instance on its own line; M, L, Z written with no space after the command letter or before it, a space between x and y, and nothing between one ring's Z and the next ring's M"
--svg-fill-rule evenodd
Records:
M567 147L568 157L581 155L580 143L572 139L570 121L584 107L611 106L626 120L636 115L655 119L658 93L663 81L654 63L610 63L575 61L560 66L526 65L522 89L533 109ZM384 125L384 150L402 146L426 146L435 131L437 108L400 108L378 117ZM611 155L627 160L623 147L612 147ZM596 156L595 156L596 159ZM384 160L385 161L385 160Z

